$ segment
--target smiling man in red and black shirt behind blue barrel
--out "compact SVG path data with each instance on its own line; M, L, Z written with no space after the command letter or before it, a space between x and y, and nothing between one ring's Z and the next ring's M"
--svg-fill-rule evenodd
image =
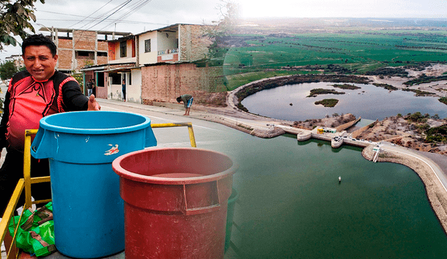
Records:
M73 77L55 70L57 47L50 38L41 34L26 38L22 58L27 71L15 74L10 81L0 123L0 151L3 147L7 151L0 168L0 215L23 177L24 131L38 128L40 119L50 114L101 109L93 95L82 94ZM47 159L31 158L31 177L47 175ZM45 185L32 189L36 200L51 198L50 185Z

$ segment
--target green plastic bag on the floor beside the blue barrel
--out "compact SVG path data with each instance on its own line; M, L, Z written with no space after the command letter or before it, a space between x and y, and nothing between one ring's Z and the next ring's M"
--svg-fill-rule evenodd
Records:
M52 202L49 202L35 212L30 209L24 212L15 237L17 248L36 256L47 256L56 251L52 211ZM19 219L20 216L14 216L9 223L11 237Z

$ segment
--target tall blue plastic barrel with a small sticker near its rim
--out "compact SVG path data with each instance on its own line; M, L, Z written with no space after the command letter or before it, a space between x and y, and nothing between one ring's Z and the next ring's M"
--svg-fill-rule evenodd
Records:
M57 250L99 258L124 250L124 202L112 161L156 145L150 119L126 112L64 112L43 117L31 145L50 158Z

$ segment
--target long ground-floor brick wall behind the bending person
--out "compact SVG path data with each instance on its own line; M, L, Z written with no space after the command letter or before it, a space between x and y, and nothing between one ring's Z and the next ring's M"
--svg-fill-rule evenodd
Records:
M200 103L210 98L213 92L222 91L221 67L196 67L195 64L165 64L141 68L142 103L154 101L177 103L175 98L191 94Z

